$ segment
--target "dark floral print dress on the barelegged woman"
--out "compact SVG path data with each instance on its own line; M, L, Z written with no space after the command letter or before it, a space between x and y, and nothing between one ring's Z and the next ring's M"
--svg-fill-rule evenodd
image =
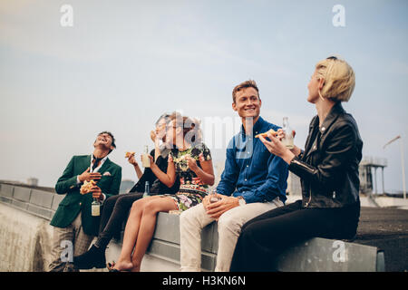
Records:
M197 144L188 150L169 153L169 162L174 162L176 175L180 178L180 190L175 195L167 196L174 199L178 210L186 210L198 205L209 191L209 185L203 184L196 173L189 169L186 157L195 159L197 165L201 168L199 162L211 160L211 153L203 143Z

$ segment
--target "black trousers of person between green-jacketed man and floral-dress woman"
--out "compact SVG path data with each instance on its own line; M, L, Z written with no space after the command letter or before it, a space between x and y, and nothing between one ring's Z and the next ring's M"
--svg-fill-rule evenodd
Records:
M112 237L121 231L121 225L128 218L131 205L143 197L143 193L127 193L107 198L103 203L100 233L96 247L106 248Z

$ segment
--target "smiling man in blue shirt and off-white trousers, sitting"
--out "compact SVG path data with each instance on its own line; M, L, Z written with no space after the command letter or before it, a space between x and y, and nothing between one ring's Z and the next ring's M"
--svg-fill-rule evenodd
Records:
M216 271L228 271L241 227L252 218L284 205L287 163L269 153L255 138L258 133L279 127L259 116L262 102L257 84L247 81L232 91L232 109L242 120L241 131L230 140L224 172L217 187L216 202L210 195L180 216L181 271L199 271L201 229L219 223ZM232 195L232 196L231 196Z

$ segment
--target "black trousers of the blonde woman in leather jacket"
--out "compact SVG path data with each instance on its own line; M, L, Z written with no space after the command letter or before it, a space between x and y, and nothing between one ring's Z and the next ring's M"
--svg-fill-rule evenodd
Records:
M270 210L249 220L241 230L231 272L274 271L287 247L312 237L355 237L360 204L345 208L302 208L302 201Z

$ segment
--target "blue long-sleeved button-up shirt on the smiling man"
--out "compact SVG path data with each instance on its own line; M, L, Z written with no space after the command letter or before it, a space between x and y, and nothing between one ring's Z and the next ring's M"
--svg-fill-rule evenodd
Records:
M267 202L277 197L287 200L287 162L271 154L255 135L279 127L261 117L252 135L241 131L229 141L227 160L217 187L219 194L242 196L247 203Z

